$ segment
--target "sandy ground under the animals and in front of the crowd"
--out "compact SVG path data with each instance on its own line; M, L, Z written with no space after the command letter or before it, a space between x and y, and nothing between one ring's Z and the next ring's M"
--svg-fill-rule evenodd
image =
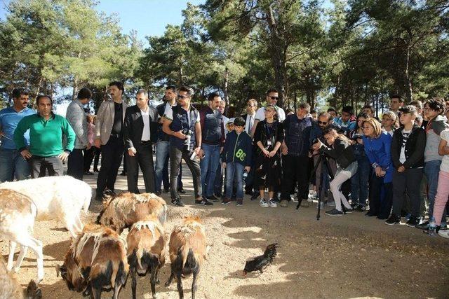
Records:
M295 204L264 209L246 197L243 207L234 202L194 206L192 180L185 169L187 206L169 204L166 235L182 216L203 218L211 249L199 275L197 298L449 298L448 239L427 237L406 225L391 227L358 212L342 217L322 214L316 221L316 204L300 211ZM85 179L95 188L96 176ZM116 188L126 189L125 176L118 177ZM168 195L163 198L169 202ZM83 221L93 221L100 208L93 201ZM55 272L71 242L69 233L59 221L41 221L35 225L35 236L44 244L43 298L81 298ZM281 245L274 264L262 274L243 277L246 259L274 242ZM6 259L6 242L0 242L0 252ZM177 298L175 283L163 286L170 274L168 263L167 258L156 286L159 298ZM25 286L34 277L36 260L29 251L17 279ZM189 298L191 277L183 283ZM112 293L103 295L110 298ZM131 298L130 279L119 297ZM138 298L152 298L149 277L138 280Z

